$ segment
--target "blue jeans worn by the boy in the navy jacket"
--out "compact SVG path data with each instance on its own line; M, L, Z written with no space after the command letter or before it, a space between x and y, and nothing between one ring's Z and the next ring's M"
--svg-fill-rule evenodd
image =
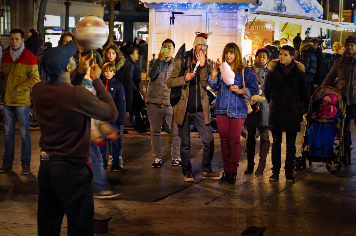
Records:
M115 127L116 129L120 130L120 138L115 139L115 140L108 140L108 139L104 139L106 142L111 142L112 145L112 164L117 164L120 165L121 164L121 158L122 158L122 147L124 146L124 125L119 125L119 127L117 127L116 125L116 120L110 122L110 124ZM106 148L107 145L102 146L100 148L100 153L101 156L103 157L103 163L106 164L108 163L108 161L106 160L105 156L106 156ZM110 155L110 144L109 144L109 155Z

